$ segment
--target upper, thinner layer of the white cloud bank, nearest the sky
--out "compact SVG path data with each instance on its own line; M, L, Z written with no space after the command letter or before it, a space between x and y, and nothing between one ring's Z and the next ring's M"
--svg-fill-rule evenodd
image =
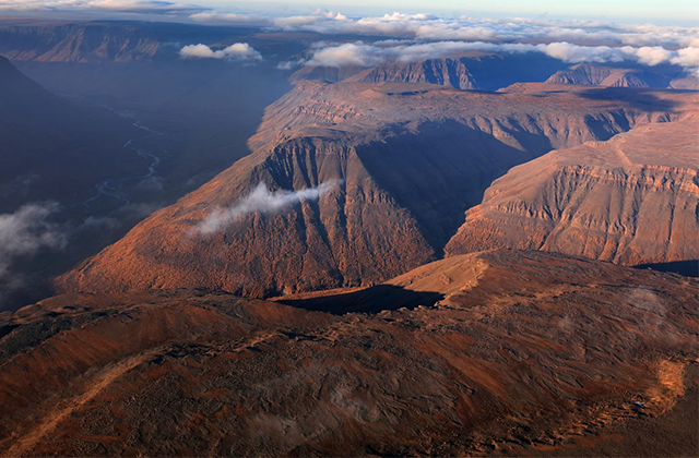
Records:
M271 28L320 34L387 36L418 41L541 40L576 41L609 46L699 47L699 27L653 24L615 24L602 21L558 21L546 19L438 17L431 14L402 14L348 17L340 12L316 10L306 15L264 17L236 13L208 12L190 16L218 23L266 22ZM695 43L695 45L692 45Z

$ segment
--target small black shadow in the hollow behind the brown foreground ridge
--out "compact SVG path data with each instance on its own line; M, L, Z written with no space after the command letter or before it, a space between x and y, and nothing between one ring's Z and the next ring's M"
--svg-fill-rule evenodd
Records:
M367 289L341 294L309 299L280 300L285 305L305 310L328 312L335 315L345 313L378 313L401 308L415 309L431 306L445 299L445 294L433 291L411 291L393 285L377 285Z

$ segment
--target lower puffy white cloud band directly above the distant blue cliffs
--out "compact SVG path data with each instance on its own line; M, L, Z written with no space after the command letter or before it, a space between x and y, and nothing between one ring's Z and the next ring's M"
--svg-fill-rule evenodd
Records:
M389 61L416 62L423 59L438 59L465 51L490 52L541 52L569 63L591 62L608 63L632 61L644 65L661 63L677 64L689 71L699 68L699 48L685 48L670 51L663 47L644 46L579 46L570 43L552 43L541 45L507 44L496 45L483 41L437 41L425 44L365 44L362 41L328 46L316 49L312 58L306 62L312 67L376 67Z

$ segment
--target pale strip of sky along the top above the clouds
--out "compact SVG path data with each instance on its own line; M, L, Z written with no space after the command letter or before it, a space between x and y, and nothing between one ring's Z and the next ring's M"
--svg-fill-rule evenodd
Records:
M0 0L0 17L27 13L33 5L45 4L52 5L49 15L64 19L66 12L80 15L76 7L86 3L91 4L93 11L102 10L111 15L119 10L115 5L128 9L130 5L149 3L155 9L177 4L230 13L262 12L279 16L324 9L352 16L401 12L438 14L442 17L522 16L682 26L696 26L699 22L699 0Z

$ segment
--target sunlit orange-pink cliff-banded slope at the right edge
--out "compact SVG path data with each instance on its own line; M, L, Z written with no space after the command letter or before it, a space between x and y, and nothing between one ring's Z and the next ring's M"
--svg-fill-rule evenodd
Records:
M510 170L449 254L525 248L637 265L699 258L698 119L644 125Z

